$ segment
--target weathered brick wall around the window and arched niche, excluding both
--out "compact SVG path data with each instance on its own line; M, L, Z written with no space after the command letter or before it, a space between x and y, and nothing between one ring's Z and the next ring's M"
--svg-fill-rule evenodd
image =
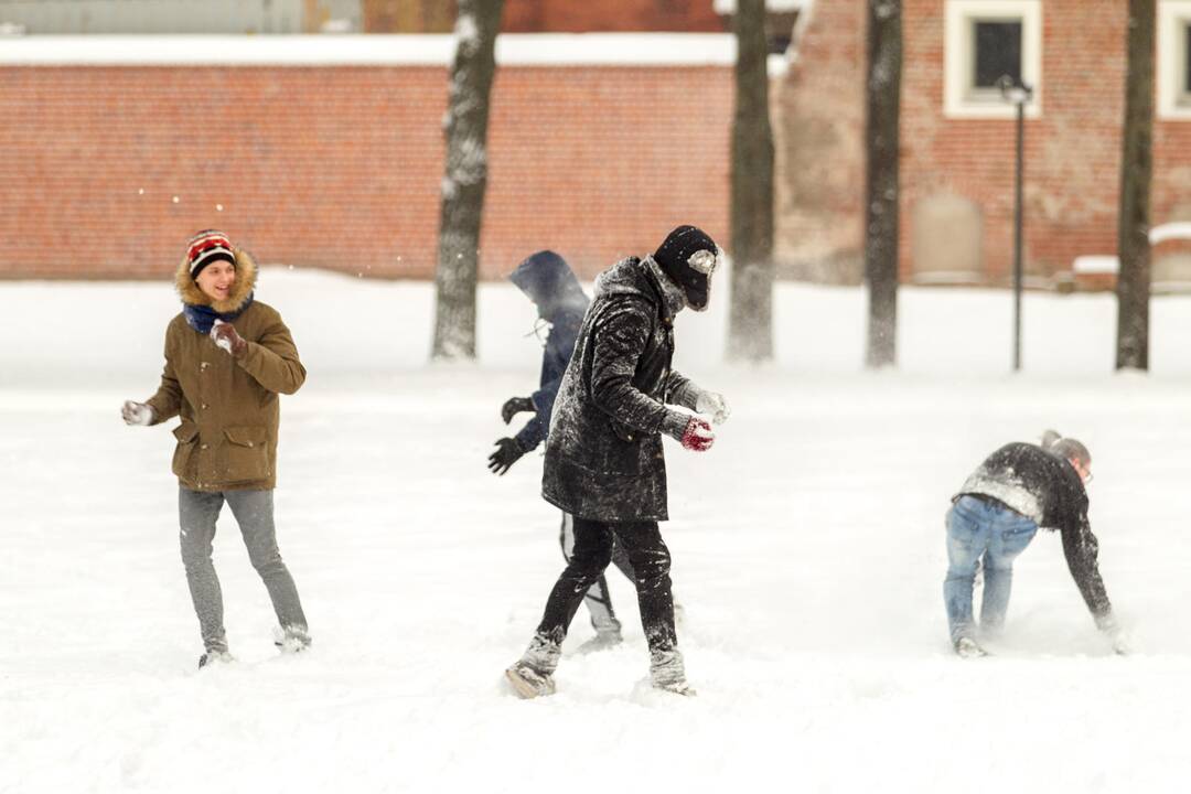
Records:
M816 6L782 89L791 145L804 149L787 152L804 165L784 175L787 260L847 261L862 246L865 6ZM1125 4L1046 0L1042 25L1042 114L1025 121L1025 263L1054 274L1079 255L1116 252ZM903 274L915 204L949 192L981 208L987 277L1005 279L1016 123L943 117L943 0L904 0L903 36ZM1191 219L1191 123L1155 121L1154 142L1154 224Z

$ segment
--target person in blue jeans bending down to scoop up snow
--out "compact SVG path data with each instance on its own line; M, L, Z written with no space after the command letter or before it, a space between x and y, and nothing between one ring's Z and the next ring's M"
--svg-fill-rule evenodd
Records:
M984 569L980 629L996 634L1005 621L1014 559L1040 526L1058 530L1067 567L1097 627L1125 652L1100 579L1099 545L1087 520L1085 483L1092 457L1080 442L1047 431L1042 444L1006 444L968 476L947 513L947 579L943 601L952 643L960 656L984 656L972 615L975 573Z

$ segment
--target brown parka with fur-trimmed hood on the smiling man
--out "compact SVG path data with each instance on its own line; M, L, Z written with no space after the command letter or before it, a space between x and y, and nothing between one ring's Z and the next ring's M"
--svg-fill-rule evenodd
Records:
M226 300L212 302L191 279L186 263L175 280L186 304L231 312L244 305L256 283L256 267L236 252L236 282ZM289 329L260 301L232 325L248 342L233 358L179 314L166 329L166 369L148 400L154 424L181 417L174 429L174 474L192 490L270 489L276 484L278 394L293 394L306 380Z

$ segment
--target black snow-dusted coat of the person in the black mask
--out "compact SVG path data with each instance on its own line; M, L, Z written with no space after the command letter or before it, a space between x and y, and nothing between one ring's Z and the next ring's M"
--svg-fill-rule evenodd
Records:
M681 293L651 260L604 271L562 377L545 440L542 495L580 518L666 520L665 404L686 393L671 369Z

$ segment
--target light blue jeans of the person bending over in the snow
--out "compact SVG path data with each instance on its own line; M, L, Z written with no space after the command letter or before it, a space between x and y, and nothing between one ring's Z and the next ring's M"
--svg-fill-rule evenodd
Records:
M947 512L947 580L943 604L952 642L974 637L972 587L984 565L980 627L994 633L1005 623L1014 583L1014 558L1037 533L1037 524L999 502L960 496Z

